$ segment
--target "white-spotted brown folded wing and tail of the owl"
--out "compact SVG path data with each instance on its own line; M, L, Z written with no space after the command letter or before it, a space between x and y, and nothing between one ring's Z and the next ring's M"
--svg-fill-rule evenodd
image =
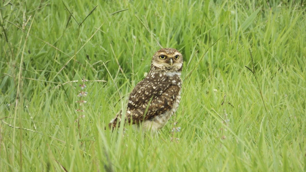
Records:
M180 86L173 82L139 82L130 94L125 121L129 124L142 122L170 110L171 104L179 94ZM147 105L150 103L149 107ZM120 125L122 112L119 112L110 128Z

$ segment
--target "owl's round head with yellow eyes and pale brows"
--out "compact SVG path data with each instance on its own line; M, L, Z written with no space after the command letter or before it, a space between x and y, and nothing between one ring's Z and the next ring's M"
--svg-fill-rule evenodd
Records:
M159 71L181 71L183 68L183 56L174 48L160 49L152 57L152 67Z

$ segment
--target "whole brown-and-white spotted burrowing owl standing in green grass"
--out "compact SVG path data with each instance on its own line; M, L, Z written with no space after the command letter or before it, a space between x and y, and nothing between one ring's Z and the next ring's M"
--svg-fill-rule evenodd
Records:
M177 111L181 99L183 57L173 48L158 50L152 57L151 69L129 96L125 122L156 132ZM122 110L109 123L120 126Z

